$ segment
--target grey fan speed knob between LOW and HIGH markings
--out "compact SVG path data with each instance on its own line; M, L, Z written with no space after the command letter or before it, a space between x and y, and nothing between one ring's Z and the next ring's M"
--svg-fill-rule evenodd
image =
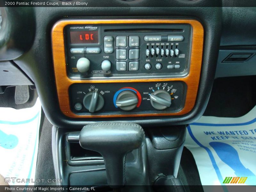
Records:
M98 91L92 91L84 96L84 107L91 113L99 111L104 106L104 98Z

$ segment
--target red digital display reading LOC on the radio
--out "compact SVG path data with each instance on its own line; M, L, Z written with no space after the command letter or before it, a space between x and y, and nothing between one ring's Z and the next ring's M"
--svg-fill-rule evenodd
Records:
M98 31L70 31L70 43L99 43Z

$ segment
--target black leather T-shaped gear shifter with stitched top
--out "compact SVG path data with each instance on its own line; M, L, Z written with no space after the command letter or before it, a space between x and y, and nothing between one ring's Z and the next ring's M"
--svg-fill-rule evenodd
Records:
M144 142L143 129L134 123L88 124L83 127L79 136L82 148L97 151L103 156L108 184L112 188L125 184L126 154L140 148Z

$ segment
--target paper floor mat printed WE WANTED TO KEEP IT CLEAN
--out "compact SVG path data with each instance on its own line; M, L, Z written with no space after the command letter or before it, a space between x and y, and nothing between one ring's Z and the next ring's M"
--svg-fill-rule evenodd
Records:
M202 116L188 126L185 146L202 185L256 185L256 106L238 118Z

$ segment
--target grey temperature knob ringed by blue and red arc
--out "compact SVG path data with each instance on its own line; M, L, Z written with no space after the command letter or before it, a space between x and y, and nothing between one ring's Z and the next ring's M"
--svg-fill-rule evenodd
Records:
M124 111L134 109L138 104L138 96L132 91L123 91L116 98L116 106Z

